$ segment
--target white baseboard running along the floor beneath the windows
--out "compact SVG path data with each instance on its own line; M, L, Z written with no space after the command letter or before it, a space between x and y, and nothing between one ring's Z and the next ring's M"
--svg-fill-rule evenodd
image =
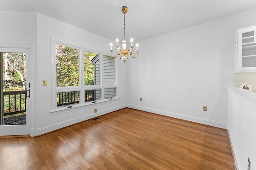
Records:
M125 107L126 107L126 105L120 105L120 106L117 106L117 107L112 107L112 108L105 109L105 110L97 112L97 113L91 113L89 115L84 115L84 116L76 117L74 119L70 119L70 120L67 120L67 121L64 121L64 122L56 123L54 125L50 125L50 126L46 126L46 127L42 127L42 128L37 128L37 129L34 129L34 128L32 129L31 128L30 129L30 131L31 131L30 136L39 136L39 135L42 135L42 134L45 134L45 133L48 133L48 132L52 132L54 130L58 130L60 128L64 128L64 127L74 125L74 124L82 122L82 121L86 121L88 119L92 119L94 117L99 117L101 115L105 115L107 113L110 113L110 112L113 112L113 111L116 111L116 110L119 110L119 109L123 109Z

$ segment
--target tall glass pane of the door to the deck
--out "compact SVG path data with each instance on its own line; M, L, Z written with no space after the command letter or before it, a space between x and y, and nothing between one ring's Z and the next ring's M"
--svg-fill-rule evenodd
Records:
M26 125L26 53L2 53L3 125Z

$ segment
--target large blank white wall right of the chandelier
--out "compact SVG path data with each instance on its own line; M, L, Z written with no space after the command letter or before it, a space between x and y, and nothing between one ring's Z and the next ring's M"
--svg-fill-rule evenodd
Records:
M139 56L127 62L128 106L227 128L224 86L234 85L234 34L256 25L255 14L250 10L140 42Z

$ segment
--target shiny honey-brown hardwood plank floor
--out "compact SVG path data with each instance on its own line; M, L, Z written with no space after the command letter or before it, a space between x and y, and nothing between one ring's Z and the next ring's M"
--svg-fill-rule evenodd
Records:
M0 169L235 170L225 129L134 109L38 136L0 138Z

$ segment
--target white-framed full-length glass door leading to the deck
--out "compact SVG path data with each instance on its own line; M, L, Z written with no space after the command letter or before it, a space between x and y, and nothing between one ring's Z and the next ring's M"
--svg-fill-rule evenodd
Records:
M30 134L28 48L0 48L0 136Z

